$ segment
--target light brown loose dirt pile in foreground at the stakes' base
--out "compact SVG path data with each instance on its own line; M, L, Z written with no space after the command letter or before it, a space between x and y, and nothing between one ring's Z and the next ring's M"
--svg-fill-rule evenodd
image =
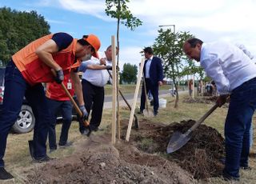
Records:
M28 183L191 183L174 162L146 154L127 142L110 144L110 135L94 136L67 158L35 168Z

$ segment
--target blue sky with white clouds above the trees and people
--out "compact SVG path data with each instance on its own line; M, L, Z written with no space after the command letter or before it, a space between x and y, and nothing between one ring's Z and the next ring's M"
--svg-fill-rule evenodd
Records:
M100 51L116 35L117 20L105 14L104 0L0 0L0 7L35 10L50 24L50 32L66 32L74 38L95 34ZM130 0L131 13L142 21L134 31L120 26L120 68L141 62L140 51L152 46L163 29L189 31L203 42L224 40L240 43L256 55L256 1L254 0ZM174 26L168 26L174 25Z

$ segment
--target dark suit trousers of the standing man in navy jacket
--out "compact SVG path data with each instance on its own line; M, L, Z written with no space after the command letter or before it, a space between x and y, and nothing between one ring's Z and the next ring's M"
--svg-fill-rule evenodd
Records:
M159 108L159 99L158 99L158 84L153 84L150 81L150 78L146 78L146 94L148 94L149 90L152 94L152 97L154 99L154 113L158 114L158 108ZM144 82L142 84L142 95L141 95L141 106L140 106L140 110L144 110L145 109L145 103L146 103L146 96L145 96L145 90L144 90Z

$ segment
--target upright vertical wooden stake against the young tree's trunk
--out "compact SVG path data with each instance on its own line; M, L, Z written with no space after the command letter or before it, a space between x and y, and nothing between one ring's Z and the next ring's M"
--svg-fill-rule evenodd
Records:
M112 144L115 144L116 140L116 117L117 117L117 111L116 111L116 100L117 100L117 82L116 82L116 62L115 62L115 39L114 35L111 36L111 49L112 49L112 126L111 126L111 142Z

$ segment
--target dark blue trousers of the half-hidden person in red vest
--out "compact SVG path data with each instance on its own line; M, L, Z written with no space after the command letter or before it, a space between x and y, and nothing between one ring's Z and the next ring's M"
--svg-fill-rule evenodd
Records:
M59 101L47 98L48 106L50 107L51 111L51 121L50 121L50 127L49 127L49 147L50 150L56 150L57 144L56 144L56 118L58 115L58 112L62 112L62 132L61 136L59 138L58 144L60 146L64 146L66 144L66 141L68 139L68 134L70 130L70 125L72 122L72 104L69 100L67 101Z

